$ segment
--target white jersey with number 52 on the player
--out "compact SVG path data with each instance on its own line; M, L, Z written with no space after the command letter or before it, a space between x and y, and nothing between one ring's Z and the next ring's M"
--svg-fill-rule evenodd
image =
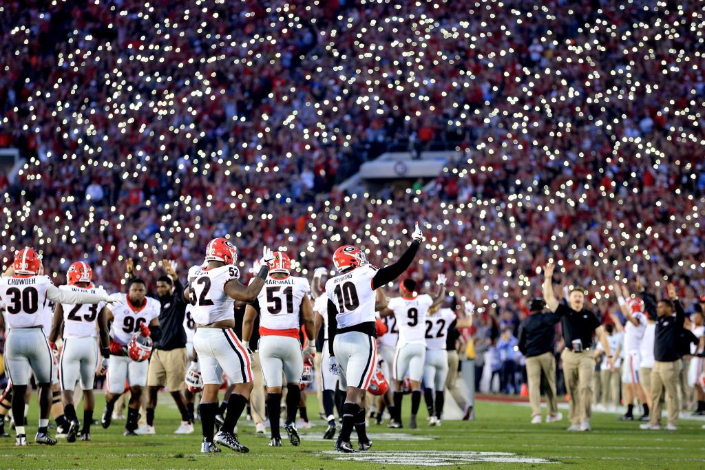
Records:
M235 299L225 293L230 280L240 278L240 270L232 264L219 268L193 266L188 270L191 315L197 325L210 325L216 321L235 318Z

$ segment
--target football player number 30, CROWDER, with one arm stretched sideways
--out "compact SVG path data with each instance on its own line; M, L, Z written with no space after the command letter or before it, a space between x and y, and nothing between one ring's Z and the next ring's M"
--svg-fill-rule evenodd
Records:
M8 378L13 383L12 412L18 417L16 445L27 445L22 417L25 415L25 392L30 370L39 389L39 431L35 442L54 445L49 435L51 407L51 376L54 373L54 354L51 352L42 326L47 302L62 304L97 304L116 302L104 290L76 292L56 287L49 276L41 275L42 260L30 247L15 254L9 276L0 278L0 298L6 305L8 335L5 342L5 364Z

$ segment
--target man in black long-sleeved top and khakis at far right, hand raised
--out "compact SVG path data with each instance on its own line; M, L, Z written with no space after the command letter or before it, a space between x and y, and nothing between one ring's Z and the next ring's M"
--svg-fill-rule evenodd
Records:
M685 311L678 302L675 287L668 285L668 299L656 306L656 333L654 339L654 368L651 369L651 400L654 402L651 420L639 426L642 429L661 429L661 409L666 402L668 431L675 431L678 423L678 381L682 366L678 355L678 337L685 322Z

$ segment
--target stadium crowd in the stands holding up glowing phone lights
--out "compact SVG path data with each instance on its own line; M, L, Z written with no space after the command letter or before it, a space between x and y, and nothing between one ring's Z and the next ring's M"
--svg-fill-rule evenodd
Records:
M87 253L119 290L125 257L154 282L160 259L198 264L228 233L241 259L281 246L311 273L339 241L384 264L419 220L414 276L448 273L482 304L488 347L516 335L551 257L608 322L608 286L637 270L692 307L698 2L437 3L6 2L0 147L28 160L0 175L4 264L34 246L61 283ZM434 142L455 153L430 189L336 189L364 159Z

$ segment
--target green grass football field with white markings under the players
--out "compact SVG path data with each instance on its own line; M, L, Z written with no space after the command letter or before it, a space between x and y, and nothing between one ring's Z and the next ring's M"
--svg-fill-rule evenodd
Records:
M178 413L167 395L159 398L157 435L125 438L124 421L114 421L108 430L94 426L90 443L61 440L54 447L32 442L36 431L36 402L32 402L32 426L27 428L32 443L18 448L14 437L0 439L0 468L394 470L444 465L498 469L550 468L551 462L591 469L705 468L705 430L697 421L681 420L675 432L640 431L637 423L619 423L614 415L595 414L594 431L572 434L565 431L565 419L563 423L532 426L528 407L496 402L478 402L475 421L444 421L440 428L426 426L424 409L417 431L392 431L373 424L369 429L372 450L352 456L331 452L333 443L320 439L324 426L318 419L314 421L318 426L302 431L300 447L292 447L288 441L283 447L268 447L269 435L255 435L254 426L241 421L240 441L250 447L250 453L236 454L223 448L221 454L202 455L200 423L192 435L173 435ZM99 416L102 396L97 402ZM317 414L315 398L309 397L309 416Z

